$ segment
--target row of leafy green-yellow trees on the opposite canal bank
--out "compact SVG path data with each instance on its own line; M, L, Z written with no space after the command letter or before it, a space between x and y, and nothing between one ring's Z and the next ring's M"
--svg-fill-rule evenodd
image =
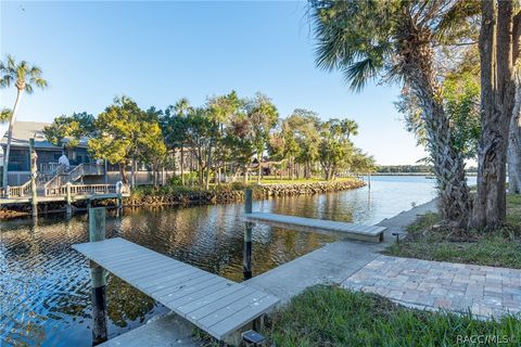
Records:
M114 99L94 117L88 113L62 115L43 130L47 139L63 146L89 138L92 157L118 165L123 180L130 166L134 181L137 165L154 171L179 171L176 182L257 182L264 170L289 179L322 176L332 180L341 174L374 169L371 156L356 147L352 138L358 126L351 119L322 120L315 112L297 108L285 119L262 93L239 98L234 91L209 98L193 106L186 98L165 110L141 110L128 97ZM196 175L195 180L191 175Z

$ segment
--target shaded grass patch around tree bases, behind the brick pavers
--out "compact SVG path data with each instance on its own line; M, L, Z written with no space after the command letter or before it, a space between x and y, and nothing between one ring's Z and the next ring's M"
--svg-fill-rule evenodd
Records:
M427 260L476 264L521 269L521 196L507 196L507 223L495 232L465 235L436 228L441 217L429 214L407 228L407 236L387 255ZM462 241L465 240L465 241Z

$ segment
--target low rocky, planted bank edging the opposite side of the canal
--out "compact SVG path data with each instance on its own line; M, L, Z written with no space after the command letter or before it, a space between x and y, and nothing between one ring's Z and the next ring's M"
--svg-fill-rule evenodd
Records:
M280 196L314 195L331 192L341 192L358 189L366 183L355 177L338 178L333 181L322 179L274 179L265 178L262 184L243 184L241 182L211 185L209 189L166 184L154 188L151 185L132 189L130 196L123 198L124 207L158 207L158 206L189 206L239 203L244 198L244 189L252 188L255 200L265 200ZM64 203L40 204L45 213L63 209ZM77 208L85 208L80 202ZM113 201L96 202L100 206L111 206ZM11 205L0 207L0 220L25 217L30 214L29 205Z

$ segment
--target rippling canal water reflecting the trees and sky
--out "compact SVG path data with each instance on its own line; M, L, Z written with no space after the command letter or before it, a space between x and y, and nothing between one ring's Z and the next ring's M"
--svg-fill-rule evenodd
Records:
M424 177L372 177L371 189L255 202L254 210L377 223L434 196ZM122 236L226 278L242 280L241 204L125 210L107 220L107 236ZM90 346L87 260L71 248L88 241L87 218L63 216L2 221L0 230L1 346ZM254 275L312 252L334 236L257 226ZM153 299L109 278L110 337L166 312Z

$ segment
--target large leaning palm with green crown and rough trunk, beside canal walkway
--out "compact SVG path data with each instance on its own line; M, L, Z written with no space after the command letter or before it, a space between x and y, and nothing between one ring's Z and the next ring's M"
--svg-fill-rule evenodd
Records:
M463 157L455 151L449 117L443 106L439 47L459 43L458 34L479 2L463 0L310 0L318 40L316 61L340 69L351 88L369 80L399 82L418 98L428 130L445 220L466 227L470 215ZM436 56L437 57L437 56Z

